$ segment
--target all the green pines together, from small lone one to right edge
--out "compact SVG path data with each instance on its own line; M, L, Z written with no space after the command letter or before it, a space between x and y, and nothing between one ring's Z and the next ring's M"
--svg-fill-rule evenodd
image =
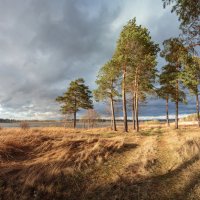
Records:
M178 128L179 102L186 102L185 88L196 96L197 119L199 116L200 58L194 47L199 45L200 4L198 0L163 0L164 7L174 3L172 12L176 12L181 21L182 35L163 42L160 52L147 28L137 25L136 19L123 27L112 58L101 67L93 91L96 101L108 100L111 105L112 128L116 130L115 101L122 100L124 131L128 131L127 95L131 96L133 128L139 131L139 105L149 95L166 100L166 120L169 125L168 103L176 105L175 126ZM196 7L191 7L196 3ZM161 72L156 68L157 56L166 60ZM159 88L155 87L159 83ZM63 114L74 114L80 108L91 109L92 92L85 86L83 79L72 81L67 92L56 99L62 103Z

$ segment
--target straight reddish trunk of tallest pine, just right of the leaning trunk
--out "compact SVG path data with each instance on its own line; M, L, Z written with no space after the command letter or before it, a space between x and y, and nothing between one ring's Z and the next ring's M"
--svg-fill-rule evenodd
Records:
M123 101L124 131L128 132L127 110L126 110L126 66L124 66L123 68L122 101Z

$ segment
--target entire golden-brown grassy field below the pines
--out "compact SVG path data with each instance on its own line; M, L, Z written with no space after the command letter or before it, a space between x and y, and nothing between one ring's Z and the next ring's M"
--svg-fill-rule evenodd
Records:
M200 130L0 130L1 200L200 199Z

